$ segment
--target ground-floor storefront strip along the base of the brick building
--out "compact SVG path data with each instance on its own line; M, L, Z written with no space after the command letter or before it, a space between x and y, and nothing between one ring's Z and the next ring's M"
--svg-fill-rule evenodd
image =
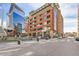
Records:
M36 36L41 36L41 37L45 37L45 36L50 36L51 38L53 38L54 36L56 37L63 37L63 33L57 33L57 32L53 32L53 31L38 31L38 32L29 32L27 33L27 36L31 36L31 37L36 37Z

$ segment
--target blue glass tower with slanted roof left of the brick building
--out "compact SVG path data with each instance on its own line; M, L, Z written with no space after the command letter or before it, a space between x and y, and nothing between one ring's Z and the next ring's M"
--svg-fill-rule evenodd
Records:
M22 25L22 30L24 29L24 11L16 4L11 4L8 16L8 29L14 29L18 24Z

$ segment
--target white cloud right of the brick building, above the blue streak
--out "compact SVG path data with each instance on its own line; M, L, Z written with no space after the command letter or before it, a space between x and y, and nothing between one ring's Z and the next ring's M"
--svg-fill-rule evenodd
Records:
M66 3L60 4L61 12L64 18L76 18L77 16L77 4L76 3Z

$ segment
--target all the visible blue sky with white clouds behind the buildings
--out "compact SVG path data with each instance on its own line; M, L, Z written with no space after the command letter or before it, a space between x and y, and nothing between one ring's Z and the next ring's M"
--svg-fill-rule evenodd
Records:
M25 16L29 15L29 12L36 10L45 3L18 3L17 5L25 12ZM61 13L63 15L64 32L77 32L77 3L59 3ZM0 4L1 6L1 4ZM4 10L4 23L3 26L6 27L8 10L10 4L3 4Z

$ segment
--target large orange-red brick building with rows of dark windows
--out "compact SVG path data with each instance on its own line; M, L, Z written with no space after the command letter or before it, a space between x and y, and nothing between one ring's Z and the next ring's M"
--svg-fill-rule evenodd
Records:
M54 33L63 35L63 17L58 3L46 3L37 10L31 11L26 18L25 30L28 36L51 37Z

